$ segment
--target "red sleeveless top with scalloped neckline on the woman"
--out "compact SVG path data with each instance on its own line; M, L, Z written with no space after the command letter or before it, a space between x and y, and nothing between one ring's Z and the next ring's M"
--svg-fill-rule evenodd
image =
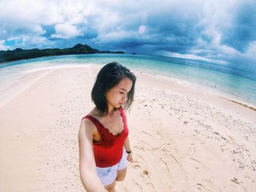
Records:
M108 128L105 128L102 123L91 115L86 115L83 118L88 118L97 127L101 139L99 142L94 142L94 158L96 166L108 167L117 164L123 155L124 140L127 138L129 130L127 127L127 118L123 109L118 109L123 118L124 130L121 134L113 135ZM83 120L82 118L82 120Z

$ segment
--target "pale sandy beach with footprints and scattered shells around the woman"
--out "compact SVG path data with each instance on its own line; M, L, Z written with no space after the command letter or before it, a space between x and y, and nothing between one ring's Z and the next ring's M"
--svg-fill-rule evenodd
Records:
M85 191L78 128L99 66L24 74L0 108L0 191ZM127 113L134 162L117 191L255 191L256 111L135 72ZM35 80L36 79L36 80Z

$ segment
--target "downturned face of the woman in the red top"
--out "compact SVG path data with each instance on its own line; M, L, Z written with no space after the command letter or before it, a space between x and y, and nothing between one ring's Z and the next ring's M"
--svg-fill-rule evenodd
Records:
M127 93L132 88L132 80L124 77L116 86L106 93L106 99L109 107L119 108L127 101Z

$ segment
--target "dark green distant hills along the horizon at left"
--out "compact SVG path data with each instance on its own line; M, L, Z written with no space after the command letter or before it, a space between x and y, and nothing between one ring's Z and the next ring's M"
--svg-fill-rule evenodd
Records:
M89 45L78 44L74 47L64 49L32 49L23 50L17 48L15 50L0 50L0 64L7 61L16 61L20 59L39 58L44 56L53 55L75 55L75 54L93 54L93 53L120 53L124 54L124 51L110 51L110 50L97 50Z

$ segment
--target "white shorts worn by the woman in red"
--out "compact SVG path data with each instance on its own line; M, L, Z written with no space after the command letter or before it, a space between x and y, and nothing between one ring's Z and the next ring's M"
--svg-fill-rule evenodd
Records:
M118 164L108 167L97 166L97 174L102 182L102 185L110 185L111 183L113 183L116 180L117 171L127 168L127 164L127 153L125 150L123 150L123 156Z

